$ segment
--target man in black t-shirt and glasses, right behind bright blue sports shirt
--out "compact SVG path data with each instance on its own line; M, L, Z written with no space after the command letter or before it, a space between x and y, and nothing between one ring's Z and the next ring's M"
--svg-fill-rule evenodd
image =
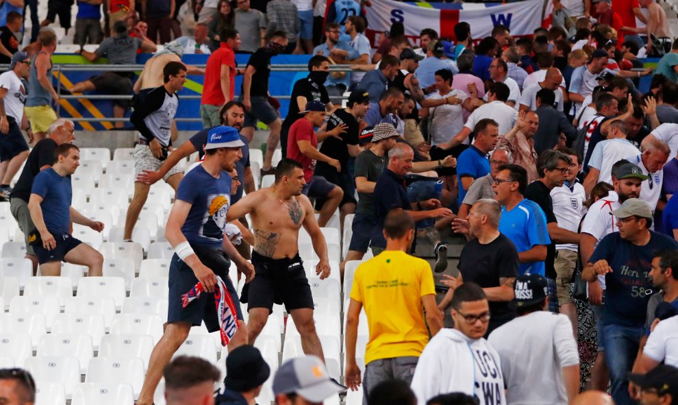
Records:
M551 244L547 246L547 258L544 260L546 267L546 277L549 281L549 310L551 312L560 312L558 306L557 291L561 294L566 293L562 289L569 290L569 282L565 285L556 285L557 274L553 262L555 260L556 243L575 243L579 245L580 236L576 232L560 228L558 220L553 213L553 200L551 200L551 190L555 187L562 187L565 183L565 176L570 170L572 159L570 156L552 149L547 149L540 154L537 159L537 172L539 179L531 182L525 188L525 198L536 202L544 211L547 219L547 229L551 238Z

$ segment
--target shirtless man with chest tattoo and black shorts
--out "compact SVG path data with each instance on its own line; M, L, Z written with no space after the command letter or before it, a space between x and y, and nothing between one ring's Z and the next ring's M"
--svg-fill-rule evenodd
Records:
M313 207L308 197L301 194L304 184L301 164L283 159L275 168L273 186L240 199L229 209L226 221L245 214L252 218L252 264L256 275L252 282L245 284L241 295L241 301L248 303L249 344L254 344L266 325L273 302L281 300L301 334L303 352L324 359L313 321L311 289L299 257L299 228L302 225L320 258L316 274L321 280L329 276L329 260L325 237L318 227Z

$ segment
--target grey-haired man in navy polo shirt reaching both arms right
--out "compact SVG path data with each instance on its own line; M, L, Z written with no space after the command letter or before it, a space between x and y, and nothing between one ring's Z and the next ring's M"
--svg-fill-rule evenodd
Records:
M410 202L403 176L412 169L413 159L414 151L410 145L405 143L397 143L388 151L388 166L379 176L374 191L375 227L372 231L370 247L375 256L386 248L384 219L391 210L405 210L415 222L427 218L452 217L452 211L449 208L442 208L437 199L416 201L414 204Z

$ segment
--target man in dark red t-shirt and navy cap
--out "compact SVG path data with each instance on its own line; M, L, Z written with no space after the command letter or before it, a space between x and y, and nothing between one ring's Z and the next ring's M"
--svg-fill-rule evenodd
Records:
M336 136L335 132L314 132L314 127L320 127L325 121L325 104L321 101L309 101L306 108L300 111L303 119L298 119L290 127L287 138L287 157L303 166L303 180L306 182L301 193L316 199L325 199L325 204L318 217L318 225L324 227L331 219L332 214L339 206L344 192L339 186L325 180L323 176L314 175L316 160L326 162L331 167L341 171L339 161L318 151L318 141L322 142L329 136Z

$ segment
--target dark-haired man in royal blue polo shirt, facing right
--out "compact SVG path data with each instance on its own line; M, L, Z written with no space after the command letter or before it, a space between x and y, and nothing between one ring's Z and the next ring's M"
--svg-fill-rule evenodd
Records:
M493 119L481 119L475 125L475 131L475 142L457 159L460 204L464 201L471 183L475 179L488 175L492 170L487 155L494 150L499 140L499 124Z

